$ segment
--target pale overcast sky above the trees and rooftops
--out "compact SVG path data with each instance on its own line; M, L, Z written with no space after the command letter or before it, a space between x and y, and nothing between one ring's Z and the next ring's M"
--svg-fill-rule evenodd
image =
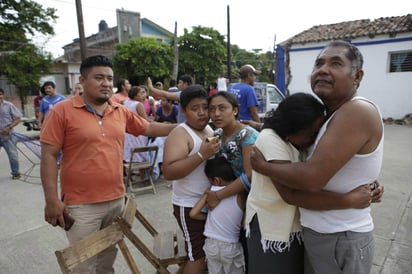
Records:
M63 55L62 47L78 38L75 0L35 0L43 7L57 9L58 19L50 22L55 30L51 38L36 37L35 42L54 57ZM381 2L381 4L379 4ZM82 0L85 35L98 32L105 20L117 25L116 9L139 12L170 32L183 35L192 26L211 27L227 34L227 7L230 10L230 41L242 49L272 50L276 44L313 26L360 19L403 16L412 13L408 0Z

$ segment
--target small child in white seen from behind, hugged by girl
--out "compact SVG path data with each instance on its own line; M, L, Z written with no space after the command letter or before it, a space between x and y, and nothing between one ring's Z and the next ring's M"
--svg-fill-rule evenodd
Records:
M222 156L206 161L205 174L212 184L212 191L222 189L236 179L230 163ZM204 194L190 211L190 217L206 219L203 233L206 240L203 250L206 253L209 273L245 273L243 248L239 242L245 195L238 194L226 198L207 214L202 212L206 198L207 195Z

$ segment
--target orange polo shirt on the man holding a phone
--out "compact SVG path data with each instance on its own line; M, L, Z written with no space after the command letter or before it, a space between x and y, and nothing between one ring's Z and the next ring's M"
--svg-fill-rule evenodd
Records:
M142 134L148 122L119 104L109 104L101 125L80 96L50 110L40 141L63 151L61 192L66 204L90 204L124 196L124 135Z

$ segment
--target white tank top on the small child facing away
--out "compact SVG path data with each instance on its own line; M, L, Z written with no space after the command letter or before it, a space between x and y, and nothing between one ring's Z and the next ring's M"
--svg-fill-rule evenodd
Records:
M224 187L212 186L212 191ZM243 210L237 203L237 195L223 199L207 213L204 235L227 243L239 242Z

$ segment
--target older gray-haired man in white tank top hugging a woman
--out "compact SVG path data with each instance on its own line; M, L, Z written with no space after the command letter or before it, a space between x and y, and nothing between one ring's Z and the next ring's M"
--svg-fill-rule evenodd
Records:
M346 193L374 182L383 158L384 127L378 107L359 97L364 71L359 49L332 41L316 57L311 88L326 107L305 162L267 163L256 150L253 169L293 189ZM300 208L305 250L316 273L370 273L374 255L370 207Z

